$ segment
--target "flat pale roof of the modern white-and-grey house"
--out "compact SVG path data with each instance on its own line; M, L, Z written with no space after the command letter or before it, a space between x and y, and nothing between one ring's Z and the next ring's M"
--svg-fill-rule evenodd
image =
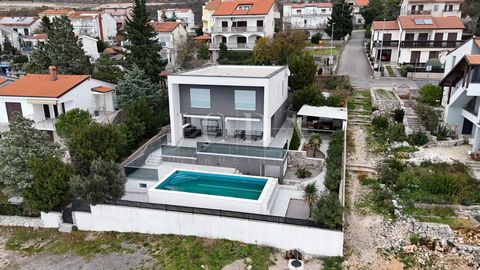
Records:
M287 66L237 66L215 65L199 68L183 73L178 76L206 76L206 77L249 77L270 78L276 73L286 69Z

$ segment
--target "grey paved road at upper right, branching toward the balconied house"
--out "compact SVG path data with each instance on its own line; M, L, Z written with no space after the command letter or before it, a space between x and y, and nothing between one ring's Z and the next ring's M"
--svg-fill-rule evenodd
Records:
M393 87L394 84L406 84L410 88L418 88L416 81L407 78L374 79L373 72L363 47L364 31L353 31L340 56L337 74L350 76L355 88ZM422 83L423 84L423 83Z

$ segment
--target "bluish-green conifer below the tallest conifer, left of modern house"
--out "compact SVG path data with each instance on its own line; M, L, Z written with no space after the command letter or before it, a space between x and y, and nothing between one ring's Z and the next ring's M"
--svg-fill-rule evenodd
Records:
M143 69L133 65L117 85L119 108L125 108L131 102L145 97L150 107L155 107L160 99L160 88L153 83Z

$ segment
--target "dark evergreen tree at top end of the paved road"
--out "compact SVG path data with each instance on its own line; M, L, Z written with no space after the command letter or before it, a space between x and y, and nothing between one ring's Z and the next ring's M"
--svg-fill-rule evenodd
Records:
M341 39L346 35L352 33L353 21L352 21L352 6L350 6L345 0L340 0L333 5L332 16L328 18L326 32L333 39ZM335 23L335 26L332 25Z

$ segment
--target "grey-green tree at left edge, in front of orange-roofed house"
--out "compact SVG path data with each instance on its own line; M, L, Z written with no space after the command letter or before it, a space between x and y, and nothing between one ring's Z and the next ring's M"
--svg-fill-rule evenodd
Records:
M37 158L60 156L58 146L50 141L47 133L35 129L33 121L20 113L13 114L10 131L0 140L0 184L7 196L21 196L33 183L29 161Z

